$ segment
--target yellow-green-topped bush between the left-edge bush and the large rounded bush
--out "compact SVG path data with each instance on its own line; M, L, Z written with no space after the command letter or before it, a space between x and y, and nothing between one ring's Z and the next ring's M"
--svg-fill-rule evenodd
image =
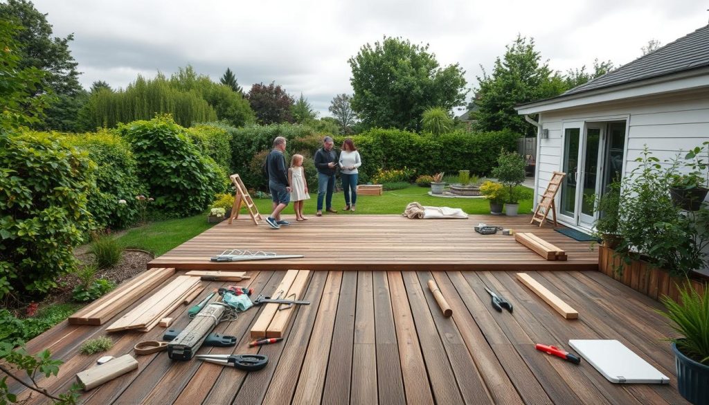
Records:
M94 216L96 228L122 229L138 221L135 196L143 194L145 187L138 181L138 163L130 145L105 130L65 137L96 162L96 189L88 196L88 209Z

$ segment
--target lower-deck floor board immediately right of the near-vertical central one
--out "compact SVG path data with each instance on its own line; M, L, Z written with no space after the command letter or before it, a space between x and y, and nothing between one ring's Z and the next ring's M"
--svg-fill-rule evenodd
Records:
M373 272L372 283L374 284L374 333L379 404L403 405L406 404L406 396L386 273Z

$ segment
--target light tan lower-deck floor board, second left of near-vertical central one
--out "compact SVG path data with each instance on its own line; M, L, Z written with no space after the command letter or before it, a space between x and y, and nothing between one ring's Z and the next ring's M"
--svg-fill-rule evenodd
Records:
M303 367L298 378L294 394L294 404L320 404L325 384L325 370L328 367L328 353L333 340L337 301L340 298L342 272L330 272L325 284L323 301L320 302L318 318L313 326L313 335L308 344L308 351L303 360ZM295 376L291 376L295 377ZM281 402L282 404L282 402Z

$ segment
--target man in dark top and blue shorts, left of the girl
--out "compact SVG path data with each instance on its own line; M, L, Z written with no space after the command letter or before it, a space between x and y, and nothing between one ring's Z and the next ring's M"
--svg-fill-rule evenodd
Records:
M273 200L273 212L266 218L266 223L271 228L290 225L288 221L281 220L283 211L291 201L291 187L288 184L288 167L286 167L286 138L282 136L273 140L273 150L266 156L266 170L268 172L268 187Z

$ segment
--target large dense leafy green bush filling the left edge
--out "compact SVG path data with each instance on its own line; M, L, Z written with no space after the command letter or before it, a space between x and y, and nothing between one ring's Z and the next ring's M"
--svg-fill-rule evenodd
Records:
M0 298L47 292L91 228L94 163L64 140L0 135Z

